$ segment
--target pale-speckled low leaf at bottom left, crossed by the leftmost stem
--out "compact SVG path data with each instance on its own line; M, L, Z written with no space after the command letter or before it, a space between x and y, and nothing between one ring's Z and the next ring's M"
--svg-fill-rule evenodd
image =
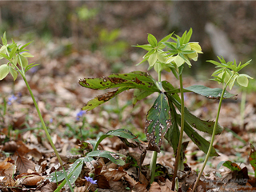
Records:
M78 158L70 166L70 169L67 170L67 174L68 174L70 184L74 183L77 180L79 174L81 173L83 162L84 161L83 161L82 158ZM53 172L52 174L50 174L50 177L49 177L50 182L61 182L63 179L65 179L63 171Z

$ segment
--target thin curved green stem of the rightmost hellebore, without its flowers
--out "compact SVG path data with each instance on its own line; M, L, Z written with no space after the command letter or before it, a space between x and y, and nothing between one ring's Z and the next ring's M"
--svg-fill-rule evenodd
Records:
M225 87L223 88L223 90L222 90L222 95L221 95L221 98L220 98L219 103L218 103L218 113L217 113L217 116L216 116L216 119L215 119L215 123L214 123L214 130L213 130L213 133L212 133L212 136L211 136L211 140L210 140L210 146L209 146L209 149L208 149L207 154L206 154L206 159L205 159L205 161L203 162L202 169L200 170L200 173L198 174L197 181L194 183L194 187L193 187L192 192L194 192L195 189L196 189L196 187L198 186L198 182L200 181L202 172L203 172L203 170L205 169L206 163L208 162L208 159L209 159L209 157L210 157L210 152L211 152L211 150L213 149L213 146L214 146L214 137L215 137L216 130L217 130L216 128L217 128L217 125L218 125L218 118L219 118L219 114L220 114L221 107L222 107L222 100L223 100L223 98L224 98L224 94L225 94L225 91L226 91L226 87L229 85L230 80L233 78L233 76L234 76L234 74L231 76L231 78L229 79L229 81L226 83L226 86L225 86Z

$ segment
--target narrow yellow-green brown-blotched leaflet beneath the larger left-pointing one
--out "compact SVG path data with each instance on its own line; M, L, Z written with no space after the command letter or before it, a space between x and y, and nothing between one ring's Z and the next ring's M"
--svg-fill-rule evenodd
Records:
M129 90L130 88L130 86L121 87L118 90L98 95L96 98L87 102L86 106L82 107L82 110L93 110L96 106L102 105L102 103L109 101L111 98L114 98L116 95L121 94L123 91Z

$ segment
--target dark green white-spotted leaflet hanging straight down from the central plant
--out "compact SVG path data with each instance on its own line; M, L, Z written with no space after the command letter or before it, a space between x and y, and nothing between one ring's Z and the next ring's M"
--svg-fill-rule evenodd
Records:
M159 146L162 145L162 138L170 128L170 125L170 106L166 95L160 93L154 105L146 114L145 133L149 141L148 150L160 151Z

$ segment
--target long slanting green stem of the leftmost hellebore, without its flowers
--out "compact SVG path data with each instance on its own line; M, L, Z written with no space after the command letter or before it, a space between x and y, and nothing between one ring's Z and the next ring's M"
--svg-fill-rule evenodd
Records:
M46 138L47 138L48 141L50 142L50 146L52 146L52 148L53 148L53 150L54 150L54 153L56 154L56 156L57 156L57 158L58 158L58 162L59 162L60 165L62 166L62 170L63 170L63 174L65 175L66 182L68 183L68 185L69 185L69 187L70 187L70 190L71 190L72 192L74 192L74 190L73 190L73 188L72 188L72 186L71 186L71 184L70 184L70 182L69 182L68 176L67 176L67 174L66 174L66 170L65 170L65 168L64 168L64 166L63 166L62 158L59 156L58 151L57 151L56 147L54 146L54 142L52 141L52 139L51 139L51 137L50 137L50 134L49 134L49 132L48 132L48 130L47 130L47 128L46 128L46 124L45 124L45 122L44 122L44 120L43 120L43 118L42 118L42 114L41 114L41 112L40 112L40 110L39 110L39 108L38 108L38 103L35 101L34 94L32 93L32 90L30 89L30 85L29 85L29 83L26 81L25 75L22 74L22 78L23 78L24 82L26 83L27 89L28 89L29 92L30 92L31 98L32 98L32 100L33 100L33 102L34 102L34 106L35 106L35 108L36 108L36 110L37 110L37 112L38 112L38 116L39 116L40 121L41 121L41 123L42 123L42 128L43 128L43 130L45 130Z

